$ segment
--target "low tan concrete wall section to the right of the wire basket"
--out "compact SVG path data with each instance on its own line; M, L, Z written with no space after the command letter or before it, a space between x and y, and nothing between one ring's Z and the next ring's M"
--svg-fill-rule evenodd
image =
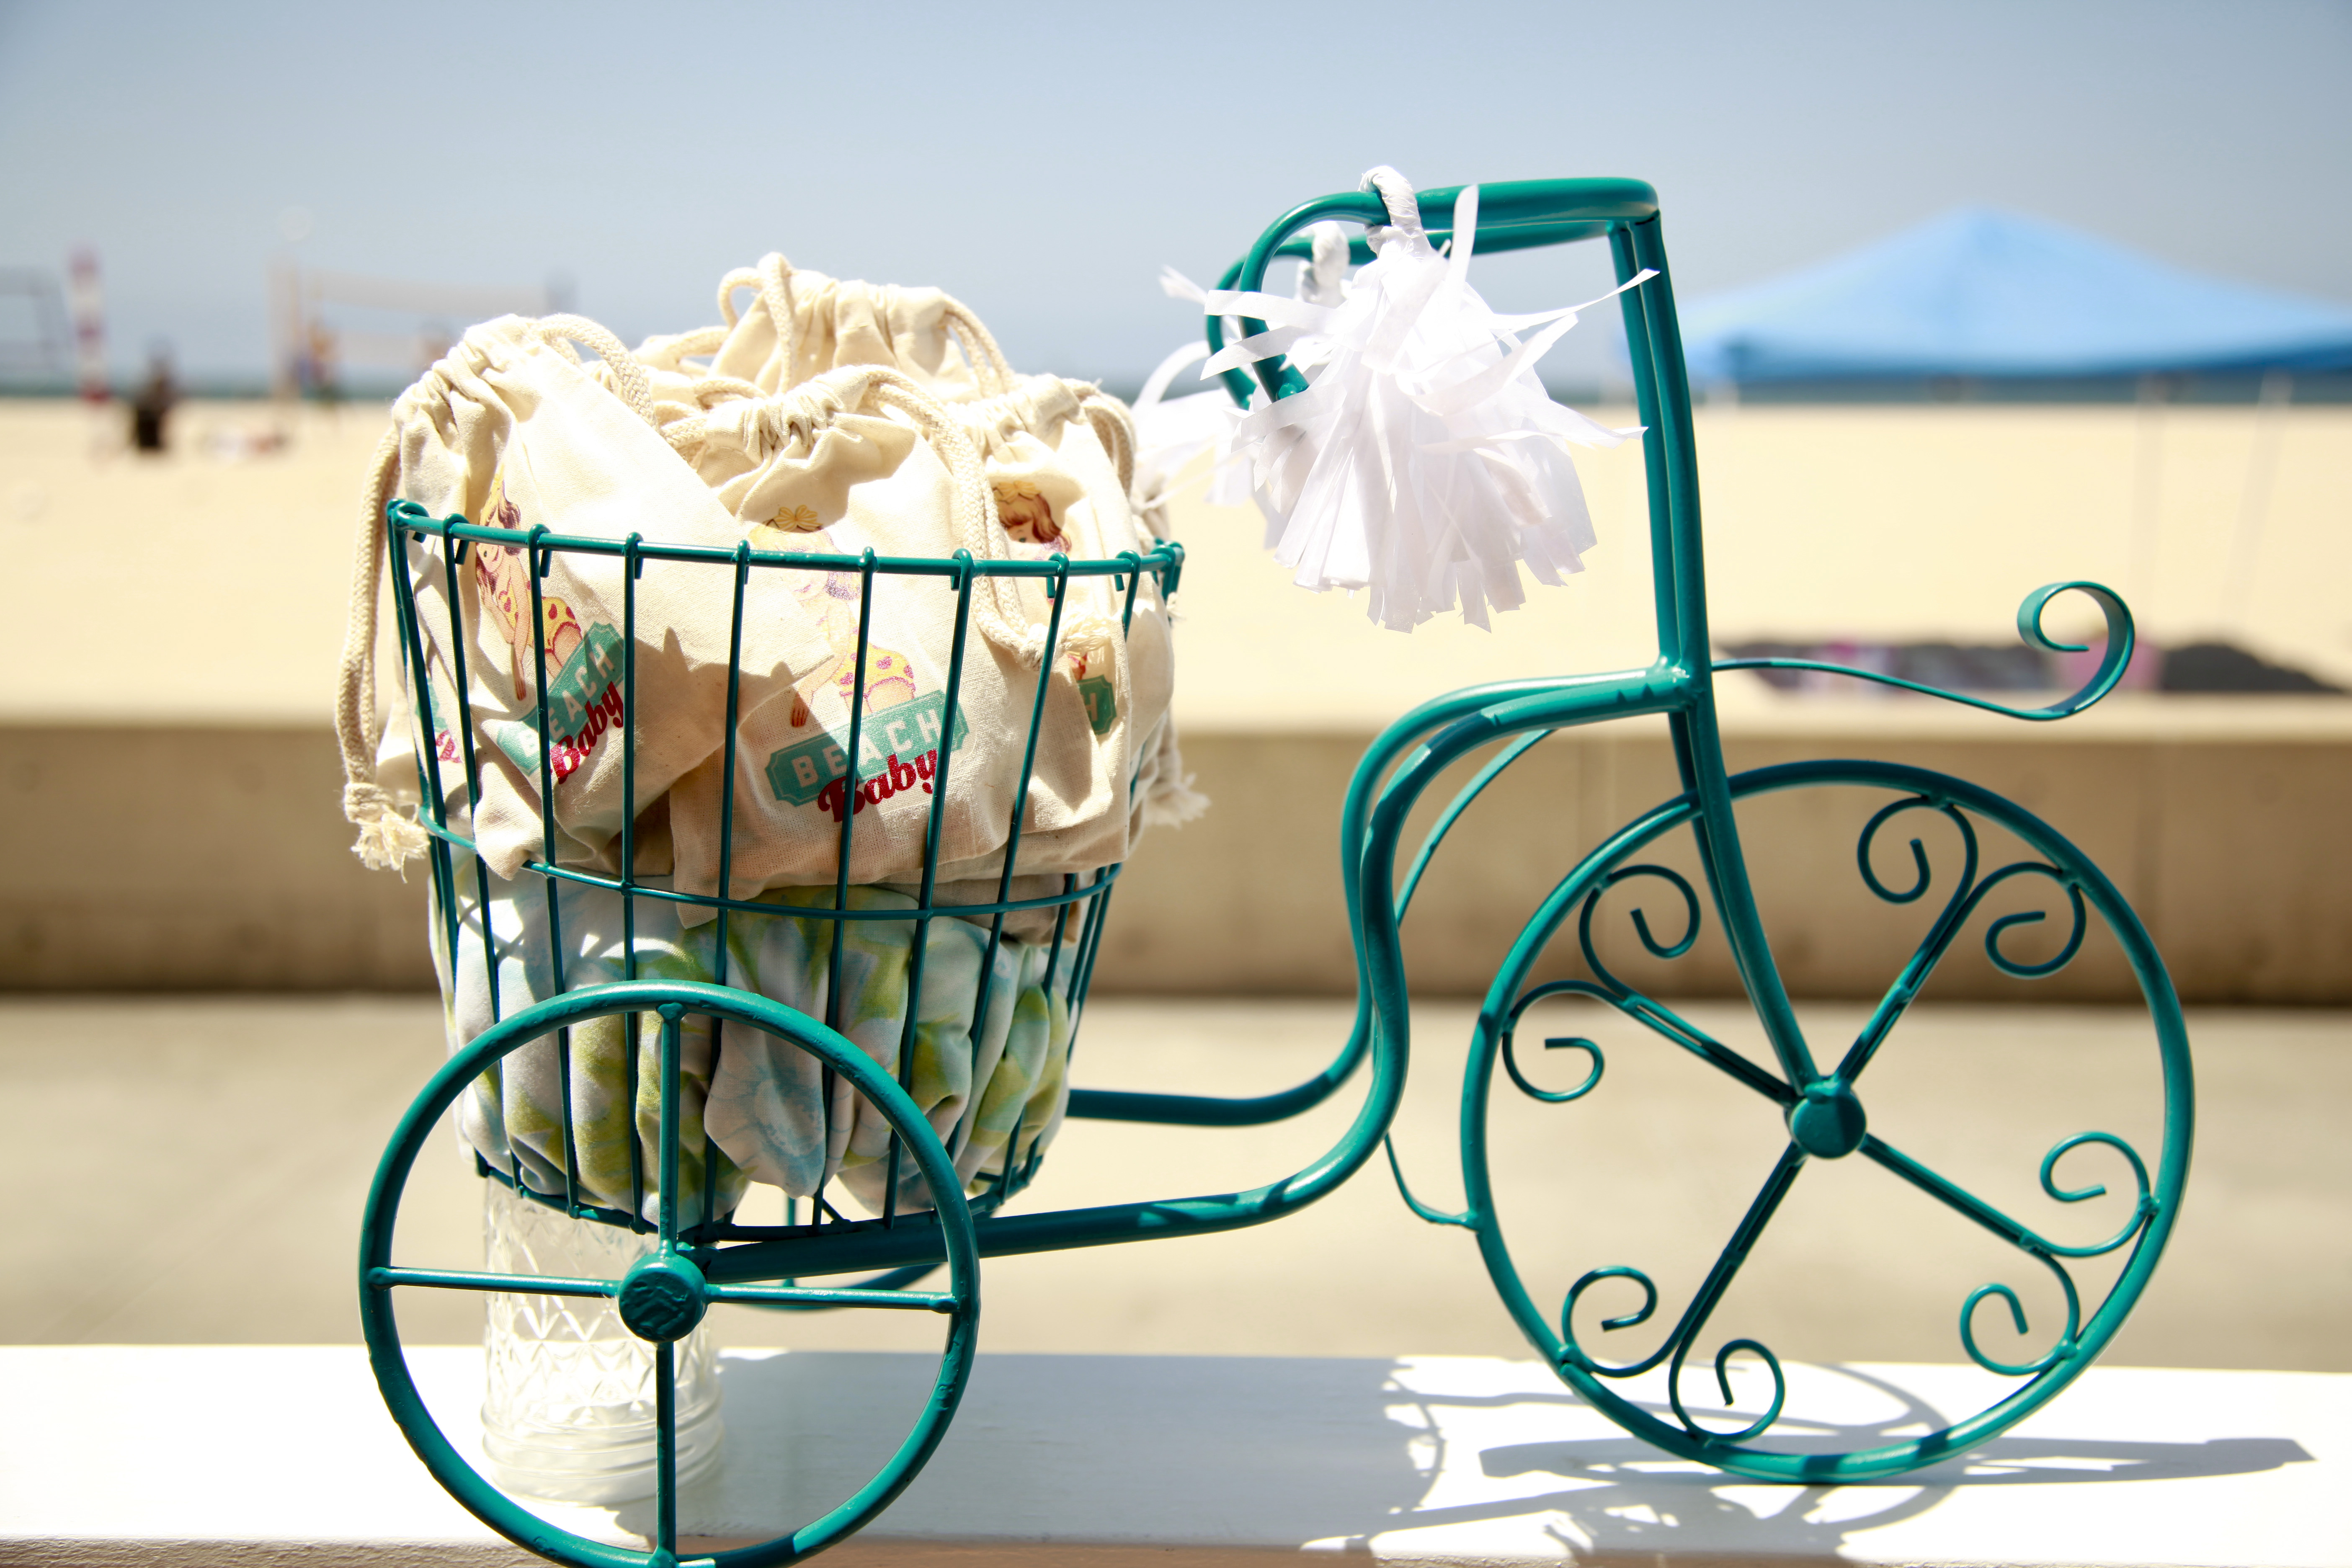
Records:
M1202 736L1185 745L1200 788L1218 802L1200 823L1145 842L1129 865L1105 933L1096 983L1105 990L1345 992L1352 990L1338 891L1338 802L1362 745L1317 736ZM2065 832L2140 912L2173 983L2194 1001L2352 1001L2352 743L2084 738L2013 731L2006 741L1851 736L1731 736L1733 769L1809 757L1879 757L1990 785ZM1406 919L1406 961L1418 990L1479 992L1545 891L1611 827L1672 797L1675 759L1663 731L1555 736L1524 757L1454 830ZM1950 827L1917 813L1882 832L1879 877L1912 879L1907 839L1929 849L1936 886L1915 905L1886 905L1856 870L1863 823L1893 795L1809 790L1755 799L1740 813L1757 898L1790 990L1806 997L1877 997L1940 907L1959 865ZM1432 811L1423 811L1423 818ZM1181 846L1181 849L1178 849ZM2004 853L2006 851L2006 853ZM2018 858L2006 835L1985 835L1983 870ZM1696 882L1689 835L1661 860ZM1268 870L1279 867L1279 870ZM1639 952L1628 910L1646 910L1661 940L1682 931L1682 903L1661 884L1611 893L1595 924L1599 950L1625 980L1658 994L1738 994L1712 910L1698 945L1672 964ZM2131 973L2112 938L2093 929L2084 952L2049 980L2011 980L1983 957L1980 933L1999 914L2042 907L2056 931L2063 905L2020 884L1994 896L1971 936L1943 961L1929 994L2129 999ZM1613 917L1609 914L1613 912ZM2056 943L2011 936L2013 957ZM1545 973L1576 973L1573 926L1555 940Z

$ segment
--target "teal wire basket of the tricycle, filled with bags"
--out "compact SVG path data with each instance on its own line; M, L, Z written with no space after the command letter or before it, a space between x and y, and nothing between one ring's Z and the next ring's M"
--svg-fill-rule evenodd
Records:
M1035 882L1035 875L1025 875L1021 865L1023 849L1023 825L1025 804L1030 797L1030 780L1037 759L1040 731L1047 724L1047 691L1056 675L1056 649L1063 635L1063 609L1070 602L1065 588L1075 581L1087 578L1110 578L1110 588L1122 597L1120 630L1129 630L1136 611L1136 595L1143 578L1155 581L1157 595L1164 599L1176 590L1183 569L1183 548L1176 543L1157 543L1150 550L1127 550L1110 559L1068 559L1065 555L1049 555L1044 559L993 559L978 562L969 552L957 552L953 557L884 557L873 550L858 555L826 555L826 552L776 552L755 550L750 543L739 543L734 550L717 550L703 545L673 545L661 541L647 541L630 534L623 541L612 538L586 538L553 534L546 527L529 529L527 536L517 536L508 529L485 527L466 522L463 517L430 517L423 508L409 501L393 501L388 505L388 541L390 541L390 569L395 590L395 630L400 637L402 668L405 668L405 691L412 703L416 722L416 757L419 757L419 783L426 799L426 811L421 811L421 825L430 835L428 865L433 886L433 936L435 947L442 954L442 983L445 987L456 987L461 983L459 964L463 964L470 952L480 952L482 966L482 990L489 1004L489 1020L496 1023L503 1011L501 980L510 980L510 973L501 976L501 933L496 929L499 898L489 896L494 886L494 875L480 853L477 844L463 832L466 806L482 799L482 726L473 708L468 679L466 679L466 637L463 625L452 625L449 637L440 639L437 646L449 651L449 691L454 696L437 693L428 677L430 656L423 637L423 604L419 602L419 583L426 574L440 574L445 588L445 602L452 607L452 618L463 618L463 595L459 592L459 569L466 564L466 552L473 548L517 548L527 559L527 578L532 595L532 623L536 625L536 670L534 682L534 710L529 741L534 745L517 748L522 759L536 764L536 797L541 811L541 853L524 860L527 877L536 877L541 884L541 929L527 931L532 952L524 954L527 961L543 964L543 980L532 990L539 997L555 997L576 990L583 980L637 980L640 971L647 969L647 943L640 931L640 907L652 905L659 914L701 914L703 950L708 952L708 983L729 987L746 987L748 976L739 973L741 966L741 943L729 938L739 936L746 924L753 922L795 922L800 926L814 926L821 938L811 945L821 947L823 961L823 1023L828 1030L844 1032L851 1020L844 1018L844 969L849 969L849 947L854 931L880 931L891 929L906 933L906 994L908 1006L903 1009L903 1027L894 1048L894 1060L884 1063L901 1088L913 1088L913 1072L917 1063L917 1027L920 1006L927 976L924 964L934 945L931 931L938 922L960 922L960 929L971 929L974 933L985 931L978 938L978 966L976 966L976 994L969 1004L969 1016L976 1020L971 1030L974 1056L981 1048L978 1023L990 1018L993 987L1000 983L1002 954L1009 945L1021 945L1028 940L1033 947L1042 947L1042 976L1037 978L1037 990L1044 992L1056 1018L1068 1020L1068 1032L1058 1044L1061 1058L1065 1060L1068 1044L1075 1041L1077 1018L1084 1011L1087 985L1094 971L1094 957L1101 943L1103 917L1110 905L1110 893L1120 877L1120 865L1096 865L1087 870L1063 870L1058 872L1058 889L1016 896L1023 882ZM548 656L548 621L541 595L541 578L546 578L550 562L557 555L595 555L595 557L619 557L621 571L621 614L623 628L619 646L607 654L607 670L616 663L614 679L602 693L583 689L581 675L590 679L604 670L586 670L586 661L593 658L595 649L581 646L572 651L572 658L562 668L550 668ZM642 715L637 708L637 581L647 562L673 562L682 567L694 567L713 574L727 574L731 583L731 630L729 630L729 670L727 670L727 705L724 705L724 757L722 757L722 809L720 809L720 865L717 865L717 891L715 893L691 893L668 886L666 877L647 877L637 870L637 839L640 839L640 809L649 802L637 799L635 766L640 748L640 726L659 724L661 715ZM830 736L830 745L821 750L821 769L830 771L830 778L818 778L818 788L826 795L828 813L837 818L837 849L835 849L835 877L830 886L830 898L826 889L793 889L793 896L779 900L769 896L741 896L731 884L734 863L734 827L736 827L736 748L739 748L739 719L741 719L741 646L743 646L743 616L746 616L746 588L753 574L779 571L779 574L842 574L854 576L856 583L856 654L854 670L856 679L849 682L849 722L847 733ZM835 581L842 581L835 576ZM995 877L995 896L988 900L941 900L938 867L941 867L941 827L948 809L948 783L955 766L955 733L962 726L960 696L964 689L964 668L969 651L971 630L971 592L974 585L985 576L1009 576L1009 578L1037 578L1042 581L1044 595L1049 599L1049 616L1044 625L1044 658L1037 663L1035 691L1028 703L1025 736L1018 745L1021 764L1014 780L1011 799L1014 811L1004 830L1002 865ZM896 752L884 752L875 736L884 731L891 722L889 705L875 705L870 701L868 672L870 658L875 656L875 644L870 637L873 604L877 585L884 590L920 592L934 590L941 595L953 595L955 602L955 630L953 651L948 658L948 670L943 677L941 712L943 719L931 719L927 733L934 736L934 748L924 769L922 788L929 792L929 816L924 853L920 865L920 877L915 877L910 891L901 891L896 898L877 900L868 889L851 884L851 863L856 849L856 835L861 816L868 804L894 792L901 780L910 780L915 769L903 762ZM920 585L920 588L917 588ZM659 628L652 628L659 635ZM586 698L586 701L583 701ZM1094 703L1094 693L1087 693ZM437 715L435 703L454 708L452 715ZM569 708L564 708L569 703ZM557 712L562 710L562 712ZM1091 712L1091 708L1089 708ZM454 719L442 724L440 719ZM562 722L560 722L562 719ZM579 724L579 729L569 729ZM560 778L567 748L579 741L602 738L604 729L619 731L621 743L621 835L619 835L619 865L616 870L595 870L583 865L560 865L550 846L560 842L555 820L555 783ZM593 733L590 733L593 731ZM941 733L946 731L946 733ZM891 729L896 733L896 729ZM856 759L851 764L851 759ZM802 771L809 769L809 759L797 759ZM456 773L452 780L449 773ZM452 783L456 785L454 792ZM894 889L906 884L896 882ZM616 964L604 964L597 973L581 976L583 969L576 952L567 950L564 938L564 898L576 893L600 893L619 905L619 943ZM520 900L517 900L520 903ZM477 940L473 926L480 926ZM1009 929L1018 926L1018 929ZM1028 931L1023 938L1021 931ZM513 938L503 938L513 945ZM1035 957L1035 954L1033 954ZM609 973L619 969L619 973ZM675 978L670 973L668 978ZM647 1020L649 1023L649 1020ZM626 1025L626 1034L635 1041L621 1056L621 1070L626 1081L621 1084L621 1105L626 1112L644 1124L649 1117L637 1117L640 1088L649 1086L649 1077L642 1072L640 1056L647 1056L644 1046L652 1044L647 1037L659 1030ZM706 1086L717 1074L717 1063L724 1051L724 1020L710 1018L708 1037L708 1065L703 1072ZM868 1046L873 1048L873 1046ZM626 1145L626 1206L616 1201L595 1201L600 1194L586 1192L581 1180L581 1126L574 1107L574 1039L572 1027L560 1027L553 1034L553 1065L555 1077L564 1086L560 1093L560 1131L555 1138L553 1159L532 1159L524 1147L508 1140L508 1152L503 1161L485 1157L477 1147L475 1166L487 1180L496 1180L520 1197L557 1208L576 1220L595 1220L604 1225L621 1225L633 1232L647 1234L656 1229L656 1220L649 1218L649 1168L656 1178L652 1192L656 1201L661 1194L677 1192L689 1199L689 1215L682 1218L684 1227L680 1232L682 1241L691 1244L715 1244L715 1241L743 1241L771 1234L764 1227L746 1227L734 1222L734 1199L743 1187L743 1171L720 1150L717 1138L708 1126L701 1131L699 1150L675 1150L663 1145L663 1133L656 1126L640 1126L623 1138ZM971 1091L964 1098L962 1110L955 1121L941 1128L941 1140L950 1150L969 1147L971 1119L981 1110L981 1088L976 1074L978 1063L974 1063ZM837 1072L828 1065L823 1067L821 1081L821 1105L830 1112L842 1100L842 1088L837 1084ZM1065 1093L1065 1077L1063 1077ZM1021 1107L1023 1114L1028 1105ZM609 1131L609 1128L607 1128ZM1004 1140L1002 1159L993 1161L990 1168L974 1173L978 1213L988 1213L1009 1199L1014 1192L1028 1185L1035 1175L1037 1164L1049 1138L1049 1126L1028 1124L1016 1119L1011 1135ZM1025 1145L1023 1145L1025 1138ZM689 1138L691 1143L691 1138ZM647 1145L654 1145L652 1150ZM677 1154L682 1164L680 1178L673 1182L659 1180L659 1166L668 1154ZM906 1161L903 1138L896 1128L887 1133L887 1147L880 1157L884 1168L882 1175L882 1201L880 1218L891 1225L903 1206L903 1182L901 1168ZM553 1178L553 1180L548 1180ZM826 1175L816 1182L809 1197L811 1225L842 1222L842 1208L828 1197L837 1171L828 1166ZM602 1194L616 1197L616 1194ZM793 1199L797 1204L797 1199ZM797 1232L797 1208L786 1208L786 1227ZM927 1269L898 1269L887 1284L903 1284ZM875 1281L884 1284L884 1281Z

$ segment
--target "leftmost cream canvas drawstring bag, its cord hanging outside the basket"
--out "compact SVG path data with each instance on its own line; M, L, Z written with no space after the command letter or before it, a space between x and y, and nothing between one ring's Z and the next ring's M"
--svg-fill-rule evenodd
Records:
M579 367L569 339L597 348L619 393ZM609 867L623 797L619 726L628 717L621 712L626 562L548 552L536 562L543 571L534 625L529 529L731 548L734 520L656 435L644 376L593 322L485 322L402 393L367 487L336 701L343 809L360 825L358 849L369 865L400 865L426 844L421 827L397 811L397 795L379 783L374 755L376 602L390 498L515 534L515 545L482 543L456 562L437 538L402 545L426 689L437 696L437 750L440 733L456 724L452 698L463 656L482 762L482 790L468 816L475 844L499 877L513 877L541 853ZM449 602L452 578L456 604ZM783 604L764 611L746 616L743 691L753 703L788 670L811 668L823 651L821 632L783 614ZM642 564L635 682L640 708L659 722L637 726L640 802L656 799L724 738L729 614L724 569ZM452 637L463 637L463 646ZM541 682L548 757L541 757ZM543 842L543 783L555 790L555 844Z

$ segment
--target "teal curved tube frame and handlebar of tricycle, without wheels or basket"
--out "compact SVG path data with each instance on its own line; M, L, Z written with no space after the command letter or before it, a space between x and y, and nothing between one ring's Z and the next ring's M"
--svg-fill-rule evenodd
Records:
M1458 190L1423 193L1423 207L1428 212L1444 212ZM1621 282L1644 268L1656 273L1621 296L1621 310L1635 371L1635 404L1644 425L1642 447L1658 656L1644 670L1515 679L1456 691L1406 712L1374 741L1348 790L1341 820L1341 867L1357 947L1357 1018L1348 1041L1319 1074L1294 1088L1256 1098L1103 1088L1075 1088L1070 1093L1068 1114L1075 1119L1249 1126L1277 1121L1324 1103L1369 1058L1371 1084L1364 1103L1345 1133L1319 1159L1247 1192L1028 1215L985 1215L976 1220L983 1258L1263 1225L1305 1208L1355 1175L1371 1159L1374 1150L1381 1147L1404 1093L1411 1020L1397 924L1409 905L1411 889L1418 884L1421 870L1454 820L1526 745L1545 733L1578 724L1665 715L1675 741L1675 764L1684 799L1691 806L1689 825L1698 839L1708 891L1724 917L1733 961L1757 1004L1766 1039L1788 1084L1799 1095L1809 1086L1816 1091L1828 1086L1832 1095L1837 1093L1835 1074L1825 1074L1816 1065L1797 1023L1780 971L1773 964L1740 856L1731 776L1724 764L1722 731L1715 712L1712 675L1719 668L1788 661L1715 663L1708 658L1691 395L1682 364L1672 273L1665 259L1656 193L1642 181L1625 179L1515 181L1482 186L1479 202L1479 252L1606 240ZM1225 273L1223 287L1258 289L1265 268L1277 256L1305 254L1305 242L1294 240L1294 235L1319 219L1343 219L1369 228L1385 221L1385 209L1381 197L1371 193L1343 193L1303 202L1258 237L1249 256ZM1432 226L1430 237L1432 242L1444 242L1449 233L1449 228ZM1362 240L1352 244L1352 254L1357 259L1371 256ZM1251 322L1249 329L1256 331L1261 324ZM1211 348L1223 341L1221 322L1214 317L1207 331ZM1228 388L1235 381L1247 386L1240 371L1228 371ZM1261 364L1258 381L1275 397L1305 386L1279 360ZM1240 395L1240 388L1232 390ZM470 529L454 531L468 534ZM866 562L842 564L875 569ZM2020 632L2042 646L2065 646L2049 642L2039 628L2042 604L2065 588L2089 592L2100 604L2110 625L2105 658L2079 693L2046 710L2009 710L1945 691L1936 691L1936 696L2030 719L2065 717L2105 696L2122 679L2131 656L2131 618L2114 595L2093 583L2042 588L2018 614ZM1891 679L1867 670L1839 672L1858 679ZM1477 748L1498 741L1512 745L1484 766L1442 813L1409 870L1399 896L1395 870L1406 816L1439 773ZM743 1234L748 1227L736 1227L736 1232ZM701 1246L694 1255L713 1284L724 1284L774 1279L779 1274L807 1276L931 1265L941 1260L943 1248L936 1222L929 1215L898 1215L891 1225L760 1227L757 1239Z

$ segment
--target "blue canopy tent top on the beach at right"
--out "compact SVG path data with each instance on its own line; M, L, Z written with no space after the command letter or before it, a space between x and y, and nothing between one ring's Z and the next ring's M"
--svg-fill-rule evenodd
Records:
M2352 306L1957 209L1682 308L1691 381L2352 369Z

